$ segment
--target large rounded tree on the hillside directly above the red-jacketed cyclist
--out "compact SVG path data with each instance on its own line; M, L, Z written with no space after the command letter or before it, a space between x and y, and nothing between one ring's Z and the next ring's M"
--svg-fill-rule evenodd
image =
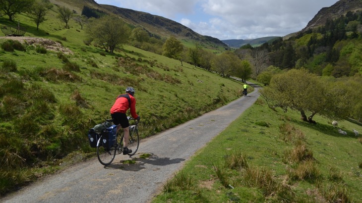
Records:
M106 51L114 52L116 47L128 42L130 28L121 19L114 16L103 16L92 21L92 26L87 26L89 38L103 45Z

